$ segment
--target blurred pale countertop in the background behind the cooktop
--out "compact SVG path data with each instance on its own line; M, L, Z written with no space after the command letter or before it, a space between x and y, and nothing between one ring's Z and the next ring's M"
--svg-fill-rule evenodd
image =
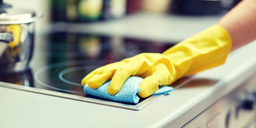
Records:
M123 19L89 24L57 23L57 30L94 32L111 36L131 36L141 39L177 43L215 24L222 15L188 16L138 13ZM49 28L53 28L49 26Z

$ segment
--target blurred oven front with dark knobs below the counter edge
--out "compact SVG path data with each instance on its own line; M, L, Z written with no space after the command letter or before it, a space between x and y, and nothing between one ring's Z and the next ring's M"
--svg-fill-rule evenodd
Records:
M256 76L204 110L183 128L251 128L256 122Z

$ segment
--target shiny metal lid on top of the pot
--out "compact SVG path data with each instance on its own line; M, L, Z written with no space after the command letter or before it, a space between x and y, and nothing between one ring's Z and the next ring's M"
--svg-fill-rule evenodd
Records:
M0 25L30 23L41 17L42 14L36 14L36 12L27 9L14 8L0 0Z

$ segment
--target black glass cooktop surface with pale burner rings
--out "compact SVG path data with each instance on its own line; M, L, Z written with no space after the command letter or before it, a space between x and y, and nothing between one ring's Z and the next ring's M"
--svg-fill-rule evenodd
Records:
M92 70L142 52L160 53L172 46L128 37L52 32L37 39L31 68L0 75L0 81L86 96L80 82Z

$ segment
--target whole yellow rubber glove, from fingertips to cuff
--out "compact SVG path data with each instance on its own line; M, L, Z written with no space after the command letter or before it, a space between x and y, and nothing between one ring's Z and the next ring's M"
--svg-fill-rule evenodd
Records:
M108 93L114 95L128 77L140 76L145 79L139 85L139 96L145 98L156 92L158 85L170 85L182 76L223 64L231 44L228 31L213 25L162 54L141 53L97 68L84 77L82 85L98 88L112 78Z

